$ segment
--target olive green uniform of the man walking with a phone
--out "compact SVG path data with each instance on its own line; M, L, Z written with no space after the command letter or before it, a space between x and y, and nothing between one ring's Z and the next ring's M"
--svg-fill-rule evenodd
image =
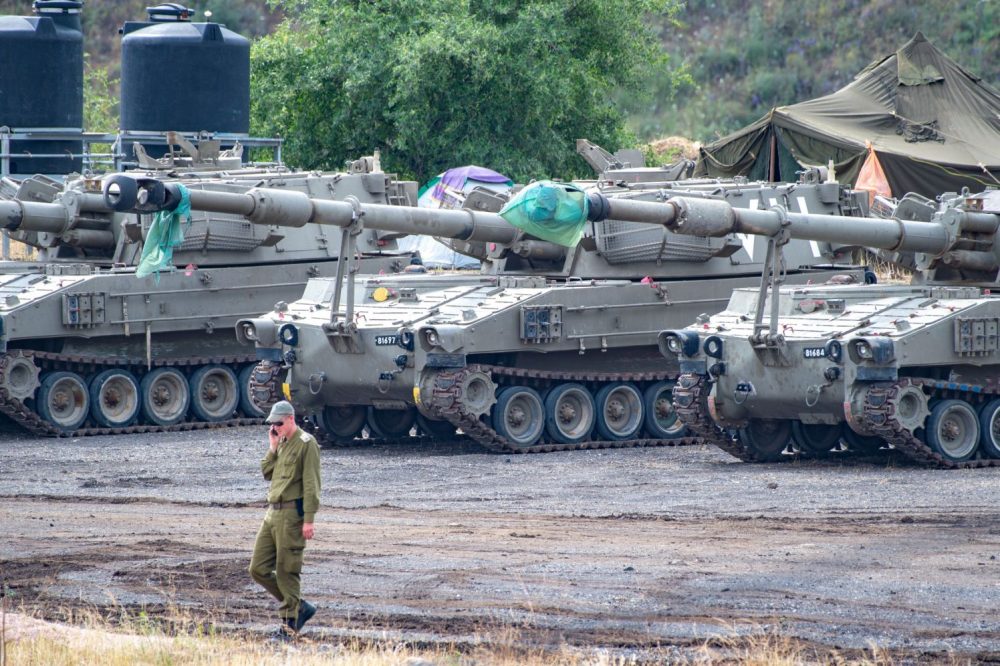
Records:
M319 445L309 433L296 430L276 452L268 449L260 468L271 488L267 515L253 548L250 575L281 602L278 614L283 619L295 619L306 547L302 524L313 522L319 509ZM296 500L301 500L302 515Z

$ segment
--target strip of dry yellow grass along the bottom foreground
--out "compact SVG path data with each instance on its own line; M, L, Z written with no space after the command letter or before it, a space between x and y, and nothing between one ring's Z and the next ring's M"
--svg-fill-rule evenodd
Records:
M256 666L296 664L313 666L631 666L646 663L711 666L749 664L784 666L891 666L893 656L872 647L864 652L833 650L782 636L771 629L743 635L720 622L722 637L700 645L645 650L645 657L611 655L573 646L531 648L517 629L492 635L481 646L421 648L390 640L326 639L307 637L294 643L276 643L250 632L216 632L193 622L190 612L172 608L170 614L151 617L118 609L113 617L96 611L60 612L66 622L49 622L26 613L7 614L4 648L10 666L132 666L133 664ZM727 637L728 636L728 637ZM968 663L945 660L944 663ZM0 665L6 666L6 665Z

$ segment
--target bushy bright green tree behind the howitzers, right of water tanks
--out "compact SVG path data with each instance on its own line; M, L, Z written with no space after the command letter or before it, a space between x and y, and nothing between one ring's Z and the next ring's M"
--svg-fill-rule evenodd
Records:
M587 173L578 138L634 142L621 95L668 69L676 0L298 0L252 50L253 131L337 168L379 149L426 181L462 164L516 180ZM650 21L650 17L657 17Z

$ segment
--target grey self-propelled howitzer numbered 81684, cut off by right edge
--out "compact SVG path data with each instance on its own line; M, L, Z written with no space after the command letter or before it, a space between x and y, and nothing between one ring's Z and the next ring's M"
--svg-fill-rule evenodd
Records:
M936 209L911 195L891 219L674 208L681 233L837 239L912 252L916 265L908 286L765 280L664 331L682 373L674 406L694 431L745 461L891 445L922 465L1000 463L1000 192L943 195Z

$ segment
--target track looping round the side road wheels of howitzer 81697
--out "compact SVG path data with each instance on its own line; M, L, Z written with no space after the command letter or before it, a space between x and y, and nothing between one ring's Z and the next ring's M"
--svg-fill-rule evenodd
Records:
M553 381L595 382L595 381L660 381L673 379L675 375L661 372L642 373L572 373L547 370L508 368L498 365L470 365L458 370L444 370L435 376L432 395L422 397L425 407L436 418L450 422L466 436L492 453L551 453L553 451L579 451L584 449L633 448L642 446L683 446L699 444L697 437L677 439L630 439L624 441L590 440L575 444L544 442L529 447L512 445L488 424L471 413L462 402L461 386L469 373L484 372L497 383L503 385L518 380L528 386L544 386Z

